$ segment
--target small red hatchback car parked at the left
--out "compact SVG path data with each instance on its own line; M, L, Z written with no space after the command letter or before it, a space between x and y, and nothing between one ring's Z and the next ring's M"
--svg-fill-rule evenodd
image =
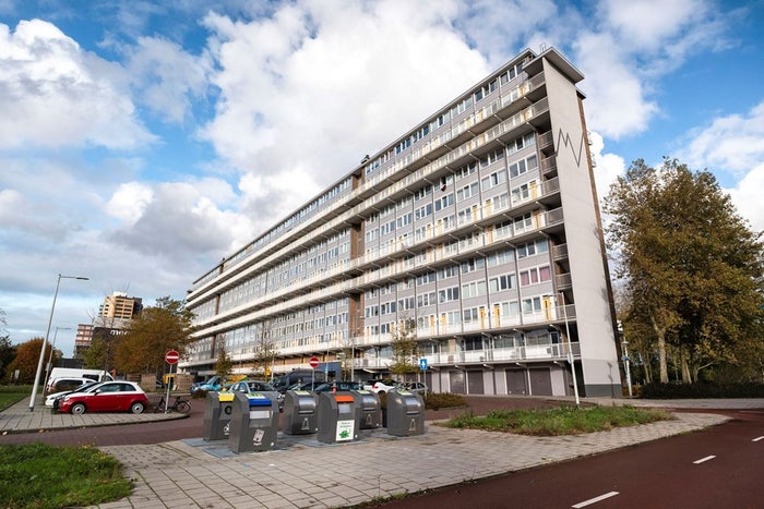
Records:
M133 381L104 381L91 386L83 392L72 392L59 403L60 412L83 414L85 412L143 413L148 398L141 386Z

